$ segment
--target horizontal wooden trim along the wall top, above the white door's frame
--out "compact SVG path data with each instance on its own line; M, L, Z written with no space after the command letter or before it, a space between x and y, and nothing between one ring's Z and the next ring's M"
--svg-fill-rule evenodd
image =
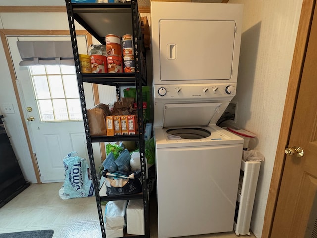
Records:
M150 7L138 7L140 13L149 13ZM66 6L0 6L0 12L67 12Z

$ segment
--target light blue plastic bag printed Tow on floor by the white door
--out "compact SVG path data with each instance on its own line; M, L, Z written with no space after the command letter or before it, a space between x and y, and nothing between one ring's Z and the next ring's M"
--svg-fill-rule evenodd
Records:
M72 151L63 159L65 181L59 189L59 197L63 200L95 195L91 170L84 158Z

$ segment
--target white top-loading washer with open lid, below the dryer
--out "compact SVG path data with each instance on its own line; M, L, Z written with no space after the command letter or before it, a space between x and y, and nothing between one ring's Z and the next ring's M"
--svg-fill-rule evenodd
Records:
M233 229L243 139L214 124L226 103L156 103L159 238Z

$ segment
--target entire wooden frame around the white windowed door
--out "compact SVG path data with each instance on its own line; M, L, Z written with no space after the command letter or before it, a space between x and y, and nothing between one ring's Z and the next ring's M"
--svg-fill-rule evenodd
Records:
M14 88L14 92L15 92L15 97L16 97L17 104L18 104L18 110L20 112L21 121L23 124L23 129L24 129L24 133L25 133L28 148L29 148L29 153L30 153L30 156L32 159L33 169L35 172L37 183L41 183L40 170L38 167L36 155L32 150L29 132L27 129L26 121L24 119L23 107L21 104L20 94L18 91L17 83L16 83L17 78L15 75L14 66L13 66L13 62L11 59L9 45L7 42L7 36L50 36L50 35L52 35L52 36L53 35L54 36L70 36L70 33L69 33L69 30L5 30L5 29L0 30L0 37L1 37L3 48L4 48L5 57L6 57L6 60L8 63L8 67L9 67L9 71L10 71L10 75L11 75L11 80L12 80L12 84L13 84L13 88ZM92 36L86 30L78 30L78 31L76 31L76 35L85 36L87 39L88 46L92 44ZM98 92L95 93L95 90L96 90L96 87L93 87L94 101L96 102L96 99L97 99L96 95L98 96ZM98 101L99 101L99 99L98 99Z

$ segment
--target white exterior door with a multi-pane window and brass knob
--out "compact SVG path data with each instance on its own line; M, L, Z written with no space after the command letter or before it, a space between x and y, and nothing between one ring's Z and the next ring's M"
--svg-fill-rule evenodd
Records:
M66 36L18 37L20 41L63 41ZM71 151L88 160L75 67L20 67L17 37L8 37L23 114L36 154L41 182L63 181L63 158ZM87 54L85 37L78 37L79 53ZM87 108L93 106L91 84L85 84ZM33 118L34 120L33 120ZM97 145L98 146L98 145ZM96 152L95 152L96 151ZM100 157L94 150L95 159Z

